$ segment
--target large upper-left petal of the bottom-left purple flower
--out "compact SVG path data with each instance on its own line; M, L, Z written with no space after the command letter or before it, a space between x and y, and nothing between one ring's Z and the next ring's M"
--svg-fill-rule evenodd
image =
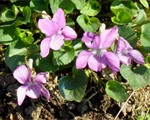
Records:
M13 72L13 76L21 84L31 82L31 71L25 65L20 65Z

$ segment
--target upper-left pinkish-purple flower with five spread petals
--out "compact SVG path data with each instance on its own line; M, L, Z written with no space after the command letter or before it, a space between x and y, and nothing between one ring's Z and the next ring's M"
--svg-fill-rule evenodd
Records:
M61 8L57 9L52 20L39 19L38 27L41 32L46 34L41 42L40 49L42 57L47 57L50 48L59 50L64 44L64 40L74 40L77 38L76 32L69 26L66 26L66 19Z

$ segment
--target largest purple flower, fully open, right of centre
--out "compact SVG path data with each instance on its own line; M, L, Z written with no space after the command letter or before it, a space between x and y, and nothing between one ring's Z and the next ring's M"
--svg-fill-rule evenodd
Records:
M76 60L76 68L81 69L86 67L88 64L90 69L98 72L108 65L113 70L114 74L118 72L120 70L119 59L113 52L106 50L117 37L117 26L102 31L100 36L94 33L85 32L83 34L82 41L85 42L85 45L92 50L83 50L79 53Z

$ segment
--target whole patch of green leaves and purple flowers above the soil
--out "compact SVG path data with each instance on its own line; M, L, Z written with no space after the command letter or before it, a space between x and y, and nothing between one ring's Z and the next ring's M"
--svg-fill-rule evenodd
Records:
M126 80L133 90L150 82L149 17L146 0L3 1L0 50L23 84L17 90L18 105L26 96L37 99L41 94L49 101L42 84L48 73L64 69L72 69L72 76L59 78L59 91L66 100L80 102L88 78L103 82L97 73L107 67L116 79L106 82L106 93L125 101L127 90L120 81Z

